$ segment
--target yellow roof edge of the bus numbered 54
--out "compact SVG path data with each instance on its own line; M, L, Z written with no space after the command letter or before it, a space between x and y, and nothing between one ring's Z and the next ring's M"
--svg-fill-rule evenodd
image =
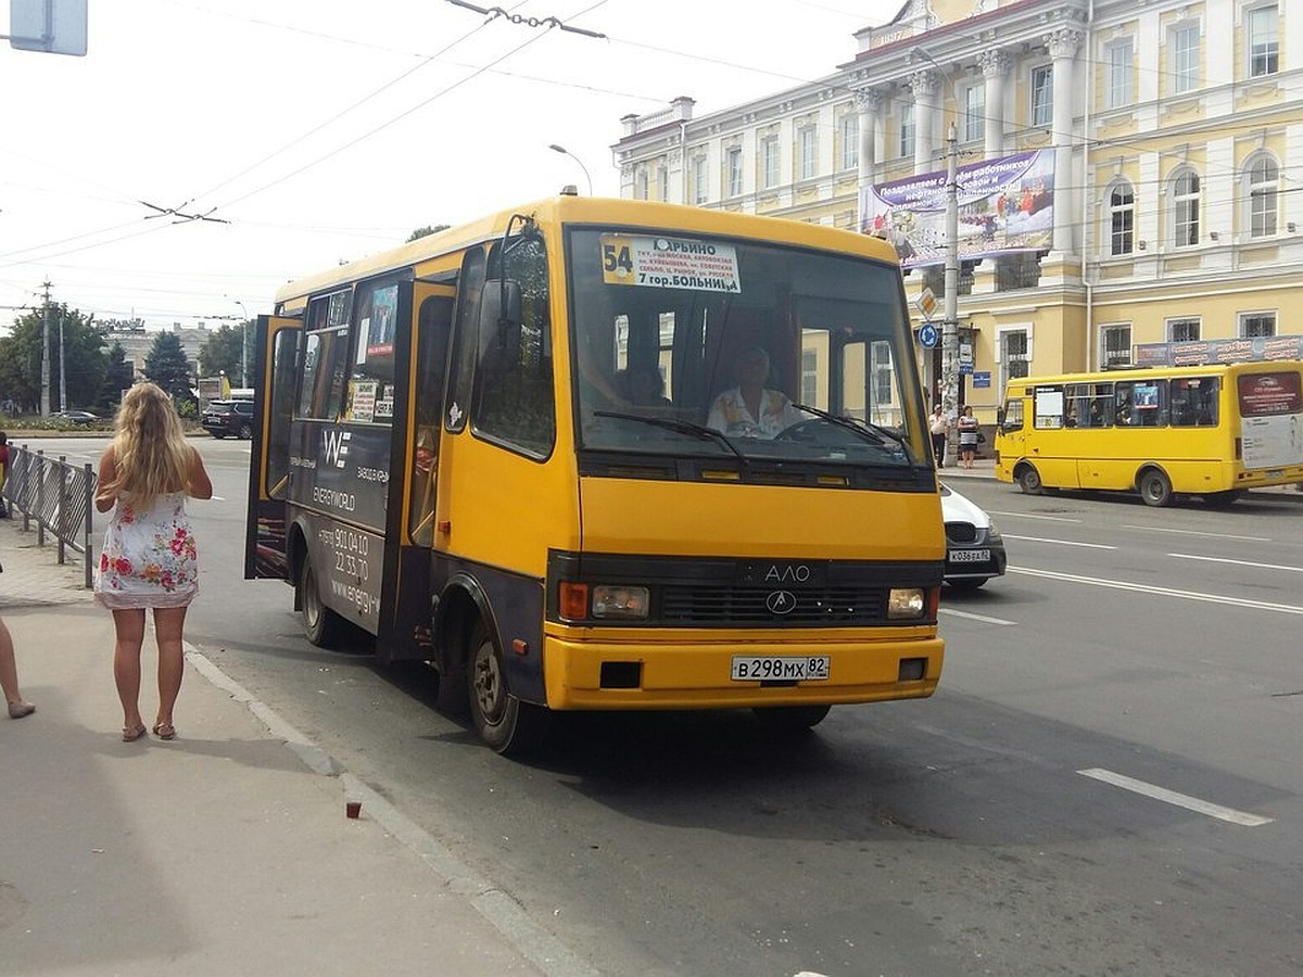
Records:
M616 224L648 231L751 237L760 241L782 241L803 248L860 254L885 262L896 262L895 249L881 238L853 231L809 224L786 218L685 207L676 203L632 201L623 198L560 195L536 201L521 207L498 211L460 227L420 237L399 248L360 258L315 275L291 281L276 290L276 307L301 309L310 294L318 294L352 281L383 275L423 261L461 250L476 242L502 236L513 215L537 216L546 223Z

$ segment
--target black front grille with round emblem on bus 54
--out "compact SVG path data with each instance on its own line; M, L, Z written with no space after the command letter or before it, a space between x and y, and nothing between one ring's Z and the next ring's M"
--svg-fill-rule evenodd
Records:
M662 593L661 620L666 624L764 624L779 628L881 624L886 619L886 589L830 586L792 590L795 606L786 614L770 610L771 588L671 585Z

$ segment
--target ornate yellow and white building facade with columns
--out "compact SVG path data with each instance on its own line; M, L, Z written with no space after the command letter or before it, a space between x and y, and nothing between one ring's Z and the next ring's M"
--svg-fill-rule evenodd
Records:
M984 423L1011 376L1303 344L1303 4L911 0L853 36L800 87L623 119L622 195L899 232L906 293L930 289L939 324L949 234L883 201L942 186L952 151L959 401ZM981 195L982 164L1037 150L1035 194ZM919 352L939 396L939 344Z

